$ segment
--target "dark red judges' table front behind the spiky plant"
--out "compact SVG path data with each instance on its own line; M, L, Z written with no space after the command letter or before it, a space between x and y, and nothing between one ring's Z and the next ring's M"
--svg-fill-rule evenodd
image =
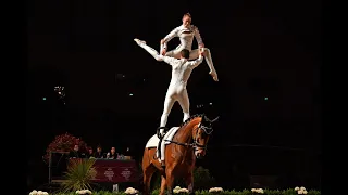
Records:
M78 158L71 158L74 160ZM135 160L96 159L94 168L97 171L94 182L124 183L138 182L139 173Z

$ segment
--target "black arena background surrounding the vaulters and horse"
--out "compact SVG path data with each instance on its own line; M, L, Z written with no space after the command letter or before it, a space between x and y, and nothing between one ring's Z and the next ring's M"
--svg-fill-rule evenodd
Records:
M133 39L159 50L186 12L220 79L212 80L203 62L188 82L191 114L220 116L198 165L221 186L247 187L249 176L261 174L279 176L284 187L319 187L322 13L314 0L32 1L27 140L37 142L27 148L29 185L47 182L41 157L64 132L92 147L130 146L141 159L160 123L171 67ZM65 87L65 104L53 90L58 84ZM181 120L175 104L167 126Z

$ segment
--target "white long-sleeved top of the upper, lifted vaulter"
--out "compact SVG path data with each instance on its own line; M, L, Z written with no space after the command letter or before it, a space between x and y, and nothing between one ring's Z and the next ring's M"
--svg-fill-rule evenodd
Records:
M188 27L181 25L174 28L167 36L164 37L162 48L166 49L167 42L174 37L178 37L181 40L181 44L176 48L178 50L187 49L188 51L191 51L194 37L196 37L198 44L203 43L198 27L194 25L189 25Z

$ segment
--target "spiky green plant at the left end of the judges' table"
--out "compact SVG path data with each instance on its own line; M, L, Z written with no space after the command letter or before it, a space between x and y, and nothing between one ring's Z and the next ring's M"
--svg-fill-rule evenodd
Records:
M67 171L65 172L65 181L62 183L62 192L76 192L79 190L92 190L91 179L96 176L92 167L96 159L76 158L70 160Z

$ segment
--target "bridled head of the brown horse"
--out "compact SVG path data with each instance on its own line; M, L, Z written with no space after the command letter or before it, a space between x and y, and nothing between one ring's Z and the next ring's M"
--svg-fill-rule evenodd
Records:
M216 121L217 118L219 117L210 120L206 115L203 115L200 123L192 131L195 156L197 158L206 156L209 136L213 132L213 122Z

